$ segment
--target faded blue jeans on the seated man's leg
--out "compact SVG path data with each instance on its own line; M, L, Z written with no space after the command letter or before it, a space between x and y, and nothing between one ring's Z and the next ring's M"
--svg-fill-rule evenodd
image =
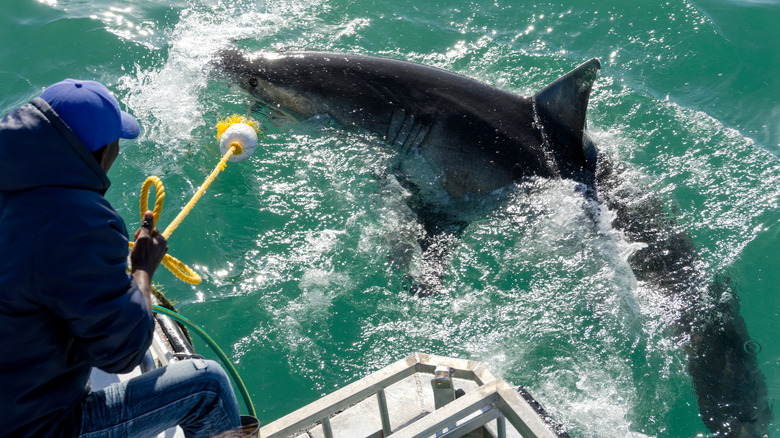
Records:
M188 437L240 426L230 381L214 361L173 362L94 391L82 403L80 437L151 437L179 425Z

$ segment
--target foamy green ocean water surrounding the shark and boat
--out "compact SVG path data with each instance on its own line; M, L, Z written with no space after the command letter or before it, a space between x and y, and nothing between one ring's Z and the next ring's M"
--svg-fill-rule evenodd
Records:
M701 269L731 279L774 404L778 22L776 0L8 0L0 113L65 77L106 83L144 129L107 195L131 229L146 176L165 183L164 227L221 155L216 122L263 121L254 156L170 239L203 283L155 277L236 362L263 422L422 351L484 362L572 437L709 436L664 298L628 267L636 245L594 227L573 183L524 182L496 208L475 205L446 290L420 299L392 265L419 230L393 150L326 118L271 119L209 62L227 47L374 54L527 95L601 59L591 136L659 194Z

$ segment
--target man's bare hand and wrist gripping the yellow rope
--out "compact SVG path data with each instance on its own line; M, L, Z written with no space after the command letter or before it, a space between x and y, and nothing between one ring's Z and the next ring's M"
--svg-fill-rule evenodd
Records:
M152 308L152 276L160 266L165 253L168 252L168 241L157 230L152 230L154 217L151 211L144 213L141 228L135 232L135 243L130 251L131 273L135 283L146 298L149 309Z

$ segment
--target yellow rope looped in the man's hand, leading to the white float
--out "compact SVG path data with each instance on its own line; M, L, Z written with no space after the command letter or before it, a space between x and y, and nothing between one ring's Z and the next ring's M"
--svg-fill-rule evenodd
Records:
M201 196L206 193L206 189L208 189L211 183L214 182L214 179L216 179L217 175L219 175L221 171L225 170L227 161L230 159L230 157L234 154L239 155L241 152L242 147L240 143L233 142L230 144L230 149L225 153L225 155L222 156L222 159L219 160L219 163L217 163L217 166L211 172L211 175L206 178L206 181L204 181L198 191L195 192L195 194L192 196L192 199L190 199L190 202L188 202L187 205L181 209L179 215L176 216L176 218L168 225L165 231L162 232L163 237L168 239L171 236L173 231L181 224L184 218L187 217L190 211L192 211L193 207L195 207L195 204L198 202ZM146 213L146 211L149 209L149 191L151 190L152 184L154 184L155 192L157 194L154 202L154 210L152 210L152 215L154 216L152 229L154 229L154 225L157 223L157 219L160 218L160 213L162 213L163 202L165 202L165 187L163 187L160 178L156 176L150 176L146 179L146 181L144 181L144 184L141 187L140 206L141 218L143 218L144 213ZM130 249L132 248L133 242L130 242ZM179 280L184 281L185 283L200 284L201 282L200 275L198 275L197 272L193 271L189 266L185 265L170 254L165 254L162 264L168 268L168 270L171 271L171 273Z

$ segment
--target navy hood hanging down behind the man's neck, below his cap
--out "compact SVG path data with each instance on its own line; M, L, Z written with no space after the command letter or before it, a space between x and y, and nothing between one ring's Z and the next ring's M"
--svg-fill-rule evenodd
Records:
M0 119L0 191L54 186L105 193L110 184L92 153L43 99Z

